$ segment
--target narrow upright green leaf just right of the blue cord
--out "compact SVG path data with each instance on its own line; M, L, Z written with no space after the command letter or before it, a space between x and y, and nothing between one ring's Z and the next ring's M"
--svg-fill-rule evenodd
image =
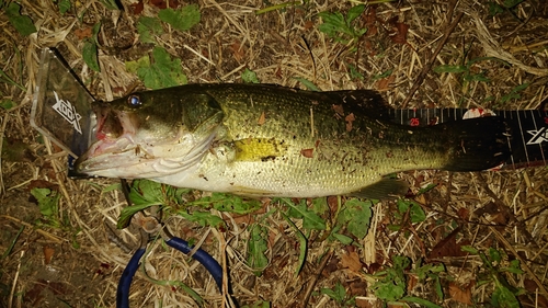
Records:
M256 276L261 276L263 270L269 265L269 259L265 255L269 249L266 242L269 230L260 225L253 225L250 233L248 241L248 265L253 269L253 273Z

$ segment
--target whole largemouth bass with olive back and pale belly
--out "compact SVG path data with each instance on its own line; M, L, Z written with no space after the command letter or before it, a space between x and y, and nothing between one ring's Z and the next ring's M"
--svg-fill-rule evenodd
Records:
M93 110L99 141L77 172L247 196L383 197L406 192L393 172L478 171L510 156L502 118L401 126L372 90L189 84Z

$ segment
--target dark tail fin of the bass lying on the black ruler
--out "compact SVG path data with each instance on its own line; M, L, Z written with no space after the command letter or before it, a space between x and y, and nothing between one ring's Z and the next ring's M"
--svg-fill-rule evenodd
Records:
M511 155L510 130L498 116L439 124L448 134L448 171L481 171L504 163Z

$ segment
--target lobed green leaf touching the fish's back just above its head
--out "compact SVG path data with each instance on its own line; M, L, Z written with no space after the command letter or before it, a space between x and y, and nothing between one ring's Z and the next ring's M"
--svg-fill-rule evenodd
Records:
M152 58L153 62L149 67L137 69L137 76L147 88L163 89L187 82L181 59L171 60L170 54L161 47L152 49Z

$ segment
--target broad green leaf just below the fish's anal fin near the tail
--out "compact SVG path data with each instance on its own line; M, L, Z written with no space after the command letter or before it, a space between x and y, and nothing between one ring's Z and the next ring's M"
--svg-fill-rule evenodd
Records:
M370 201L349 199L339 214L339 224L346 225L346 229L357 239L365 238L372 219L372 206Z

